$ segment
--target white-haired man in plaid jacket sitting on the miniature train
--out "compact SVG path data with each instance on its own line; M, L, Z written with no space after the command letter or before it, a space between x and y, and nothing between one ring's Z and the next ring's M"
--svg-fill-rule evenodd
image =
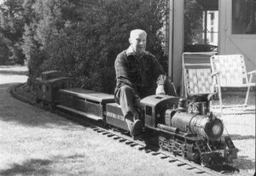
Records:
M158 60L145 50L146 42L146 31L132 30L130 47L118 54L114 62L117 79L114 97L121 105L132 137L142 132L140 99L151 94L176 93Z

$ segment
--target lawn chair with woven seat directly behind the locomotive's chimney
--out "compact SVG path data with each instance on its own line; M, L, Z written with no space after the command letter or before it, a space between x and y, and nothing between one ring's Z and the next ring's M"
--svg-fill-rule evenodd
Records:
M183 53L183 94L191 103L207 101L208 109L212 95L216 94L212 84L212 55L212 52Z

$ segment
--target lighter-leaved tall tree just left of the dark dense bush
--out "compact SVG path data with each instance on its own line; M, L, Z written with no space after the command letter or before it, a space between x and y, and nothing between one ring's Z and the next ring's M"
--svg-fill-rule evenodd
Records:
M42 64L49 59L46 48L51 38L58 35L64 27L60 21L61 7L65 2L67 1L25 0L23 3L26 25L22 48L28 60L31 83L44 71Z

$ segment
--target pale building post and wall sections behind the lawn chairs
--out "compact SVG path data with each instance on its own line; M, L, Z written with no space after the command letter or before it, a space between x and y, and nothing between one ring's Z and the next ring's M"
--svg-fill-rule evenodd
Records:
M216 26L218 26L218 42L215 36L211 44L218 43L218 54L243 54L247 71L253 71L256 69L256 32L255 34L232 34L233 1L239 0L218 0L218 13L214 12L215 17L218 18L218 24L216 24L217 20L212 23L212 31L217 30ZM168 75L172 77L177 90L182 88L183 8L184 0L170 0ZM256 82L255 75L253 82Z

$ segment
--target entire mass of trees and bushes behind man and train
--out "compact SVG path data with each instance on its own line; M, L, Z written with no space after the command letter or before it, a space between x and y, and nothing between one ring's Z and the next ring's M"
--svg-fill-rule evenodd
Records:
M31 83L55 69L81 88L112 93L113 63L128 48L132 29L147 31L148 51L167 68L161 46L166 8L167 0L6 0L0 34L7 43L0 47L28 60Z

